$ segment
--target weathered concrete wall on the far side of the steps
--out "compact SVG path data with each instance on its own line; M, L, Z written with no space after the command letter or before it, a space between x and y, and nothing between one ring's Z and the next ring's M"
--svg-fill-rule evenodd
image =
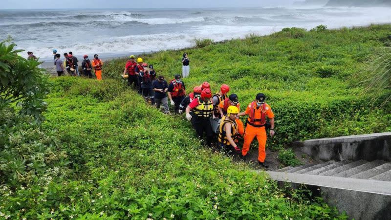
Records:
M317 161L391 161L391 132L305 140L292 146Z

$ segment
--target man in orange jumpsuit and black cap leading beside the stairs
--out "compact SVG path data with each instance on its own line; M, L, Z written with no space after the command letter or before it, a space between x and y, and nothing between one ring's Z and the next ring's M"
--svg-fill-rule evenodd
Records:
M258 93L255 101L251 102L245 112L238 114L238 117L248 115L246 121L246 130L244 133L244 143L242 148L242 157L246 157L250 144L257 137L258 140L258 162L269 167L265 163L266 152L266 117L270 120L270 137L274 136L274 114L272 109L265 102L266 96L263 93Z

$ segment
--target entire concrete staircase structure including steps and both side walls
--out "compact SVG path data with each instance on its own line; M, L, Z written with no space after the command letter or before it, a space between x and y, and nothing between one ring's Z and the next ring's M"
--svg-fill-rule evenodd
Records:
M280 187L304 185L356 220L391 219L391 132L297 141L292 147L315 162L267 172Z

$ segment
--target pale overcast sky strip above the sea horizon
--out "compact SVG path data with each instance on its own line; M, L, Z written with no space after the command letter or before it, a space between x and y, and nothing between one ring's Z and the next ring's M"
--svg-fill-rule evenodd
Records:
M0 0L0 1L1 1L0 9L43 9L43 8L60 9L60 8L208 8L208 7L285 6L298 0Z

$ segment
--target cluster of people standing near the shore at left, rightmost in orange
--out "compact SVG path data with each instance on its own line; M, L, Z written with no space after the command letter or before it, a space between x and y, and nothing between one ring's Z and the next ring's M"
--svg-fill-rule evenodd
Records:
M54 65L56 66L56 71L58 76L64 76L65 70L70 76L79 76L79 60L73 56L72 52L64 53L65 60L61 60L61 55L57 53L57 50L53 50L54 56ZM93 78L92 70L95 73L97 80L102 80L102 66L103 62L99 59L98 55L94 55L93 60L88 59L88 55L83 56L82 61L82 74L85 77Z

